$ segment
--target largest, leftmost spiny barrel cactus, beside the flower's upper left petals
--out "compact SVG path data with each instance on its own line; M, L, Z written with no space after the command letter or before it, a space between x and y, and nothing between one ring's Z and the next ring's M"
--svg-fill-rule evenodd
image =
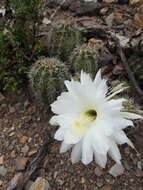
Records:
M64 80L69 78L67 68L55 58L38 60L29 72L31 87L44 105L49 108L64 89Z

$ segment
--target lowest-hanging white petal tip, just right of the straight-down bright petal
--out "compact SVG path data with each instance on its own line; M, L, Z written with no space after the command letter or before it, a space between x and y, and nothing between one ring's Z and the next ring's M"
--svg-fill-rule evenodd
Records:
M99 154L97 152L94 152L95 154L95 161L96 163L102 167L102 168L105 168L106 166L106 163L107 163L107 156L106 155L102 155L102 154Z

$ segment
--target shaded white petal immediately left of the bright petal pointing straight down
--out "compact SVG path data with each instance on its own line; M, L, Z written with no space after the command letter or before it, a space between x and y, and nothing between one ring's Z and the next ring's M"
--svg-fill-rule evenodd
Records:
M72 149L71 153L72 163L76 163L81 159L81 151L82 151L82 142L79 142Z

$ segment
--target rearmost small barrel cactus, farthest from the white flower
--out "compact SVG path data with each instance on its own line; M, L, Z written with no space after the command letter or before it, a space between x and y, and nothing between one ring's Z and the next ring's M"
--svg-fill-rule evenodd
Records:
M66 61L80 42L81 36L77 28L70 24L56 25L49 32L49 55Z

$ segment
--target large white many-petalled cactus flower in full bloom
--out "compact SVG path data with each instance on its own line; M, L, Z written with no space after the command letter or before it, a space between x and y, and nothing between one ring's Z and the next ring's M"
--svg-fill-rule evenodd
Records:
M143 119L140 115L123 112L125 99L112 99L125 87L108 92L101 70L93 81L89 74L81 72L80 82L65 81L65 85L68 91L51 104L56 115L50 124L60 126L54 136L62 141L60 152L72 148L73 163L81 160L89 164L95 158L96 163L104 168L108 153L117 164L121 164L117 145L127 143L133 147L123 129L133 126L130 119Z

